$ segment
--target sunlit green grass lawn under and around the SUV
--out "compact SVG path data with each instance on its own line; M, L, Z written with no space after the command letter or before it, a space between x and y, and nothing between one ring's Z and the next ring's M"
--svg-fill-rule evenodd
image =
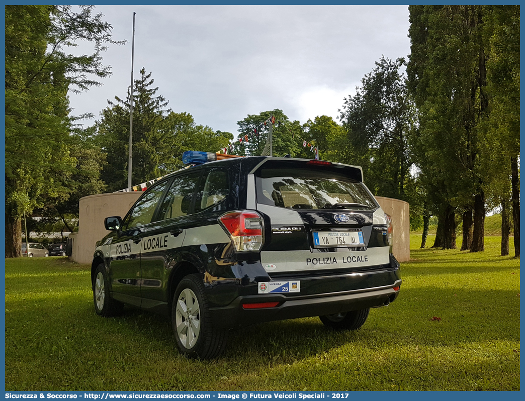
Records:
M97 316L89 266L6 259L6 390L519 390L519 260L499 237L479 254L411 241L400 297L360 330L254 325L204 362L178 355L163 316Z

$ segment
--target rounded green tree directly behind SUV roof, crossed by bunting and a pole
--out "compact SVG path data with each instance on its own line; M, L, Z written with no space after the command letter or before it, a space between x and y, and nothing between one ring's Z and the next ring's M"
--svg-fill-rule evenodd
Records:
M292 138L293 132L299 135L303 133L299 121L291 122L279 109L262 111L259 114L248 114L244 120L237 122L239 126L237 140L243 141L235 144L236 154L258 156L262 153L268 138L268 120L272 116L275 117L276 121L272 134L273 155L282 157L290 154L292 157L296 157L300 154L301 144L298 139ZM257 129L257 133L255 133L255 129ZM248 142L244 140L246 135Z

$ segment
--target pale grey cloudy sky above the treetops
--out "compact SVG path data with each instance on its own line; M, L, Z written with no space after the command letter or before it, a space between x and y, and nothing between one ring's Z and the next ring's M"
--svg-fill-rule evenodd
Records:
M113 26L113 39L128 43L103 52L112 75L102 87L70 93L72 114L95 119L130 86L133 12L134 78L144 68L173 111L234 134L248 114L274 109L301 123L323 114L335 120L374 62L410 52L408 6L107 5L96 11Z

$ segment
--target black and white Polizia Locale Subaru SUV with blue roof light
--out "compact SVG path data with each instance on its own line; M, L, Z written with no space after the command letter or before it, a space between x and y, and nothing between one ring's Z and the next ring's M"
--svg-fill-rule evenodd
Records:
M224 160L217 160L220 158ZM95 311L171 314L178 350L213 358L231 328L319 316L360 328L400 291L392 222L361 167L188 151L93 256Z

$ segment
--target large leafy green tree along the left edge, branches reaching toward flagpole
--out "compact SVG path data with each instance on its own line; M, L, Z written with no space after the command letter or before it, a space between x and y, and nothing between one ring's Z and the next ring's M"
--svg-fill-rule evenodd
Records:
M93 6L5 7L6 257L20 256L20 217L47 198L67 196L56 174L72 171L69 90L100 85L109 67L101 52L111 25ZM79 39L93 43L91 55L68 52ZM88 74L93 78L88 78Z

